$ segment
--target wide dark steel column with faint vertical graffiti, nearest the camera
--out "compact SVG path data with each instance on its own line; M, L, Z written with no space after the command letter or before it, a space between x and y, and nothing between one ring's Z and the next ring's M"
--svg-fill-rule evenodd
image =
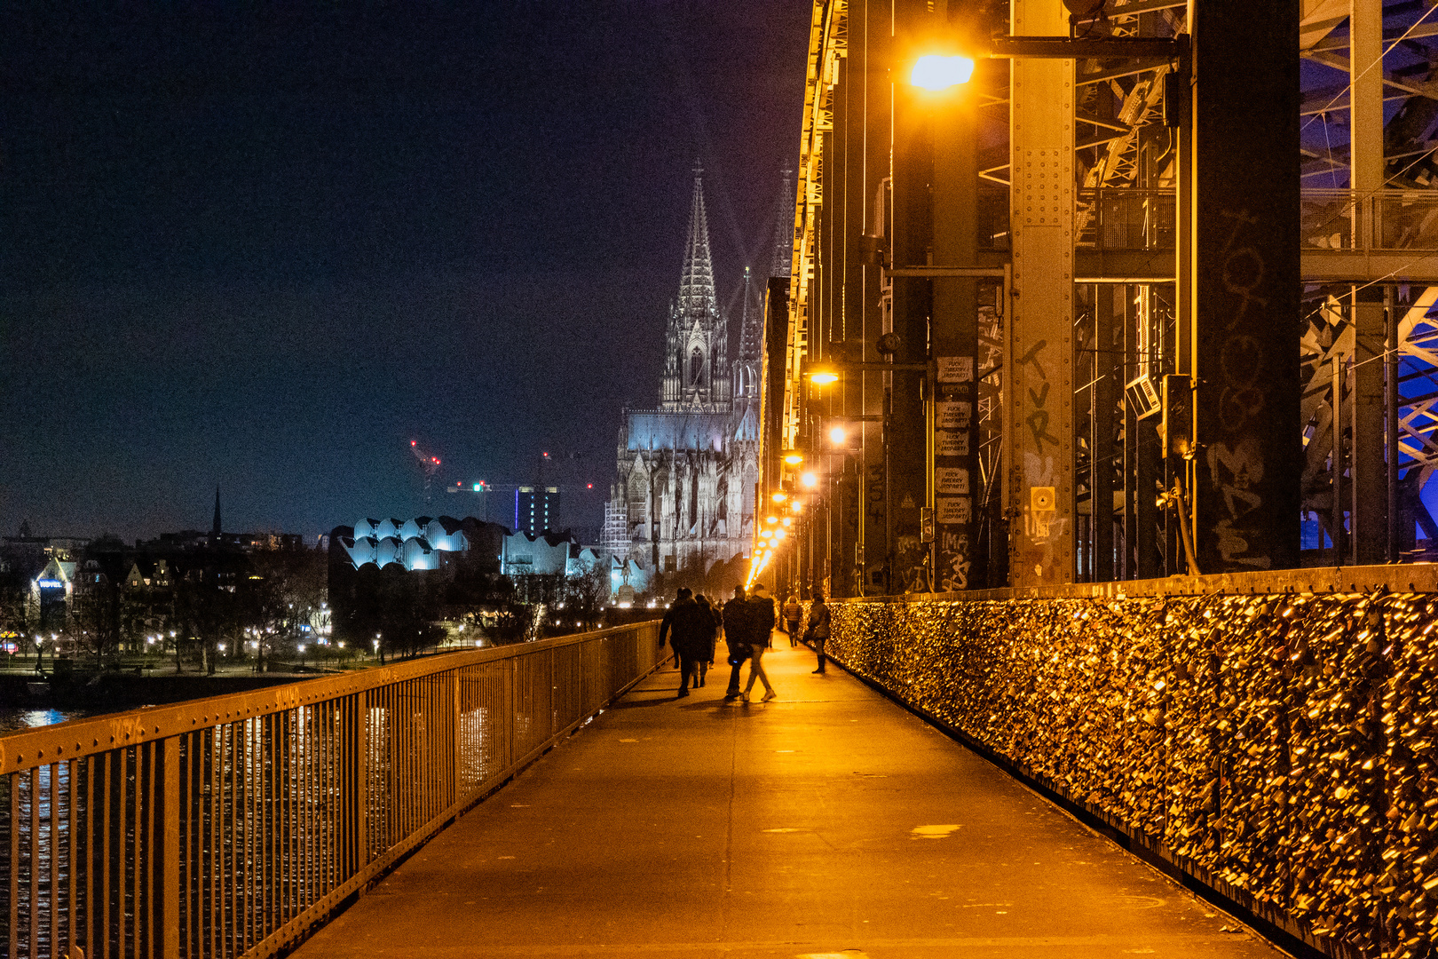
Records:
M1299 565L1299 0L1192 6L1194 520L1205 574Z

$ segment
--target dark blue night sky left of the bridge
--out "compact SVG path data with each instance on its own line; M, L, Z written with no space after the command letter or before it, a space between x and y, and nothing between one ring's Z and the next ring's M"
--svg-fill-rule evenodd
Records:
M411 439L597 526L696 158L720 303L769 263L808 6L99 6L0 12L0 532L407 518Z

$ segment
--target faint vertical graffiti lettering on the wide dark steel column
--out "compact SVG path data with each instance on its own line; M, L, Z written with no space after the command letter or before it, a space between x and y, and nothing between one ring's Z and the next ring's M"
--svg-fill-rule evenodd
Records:
M1218 436L1208 441L1206 462L1212 489L1219 495L1221 519L1215 523L1218 552L1224 562L1267 569L1273 558L1261 538L1245 535L1244 519L1263 509L1264 449L1252 427L1267 405L1263 341L1244 332L1264 319L1268 300L1255 290L1264 282L1263 252L1247 242L1257 217L1247 211L1224 211L1232 231L1219 256L1222 285L1231 295L1218 349ZM1247 322L1245 322L1247 321ZM1260 424L1261 426L1261 424ZM1255 542L1257 539L1257 542Z

